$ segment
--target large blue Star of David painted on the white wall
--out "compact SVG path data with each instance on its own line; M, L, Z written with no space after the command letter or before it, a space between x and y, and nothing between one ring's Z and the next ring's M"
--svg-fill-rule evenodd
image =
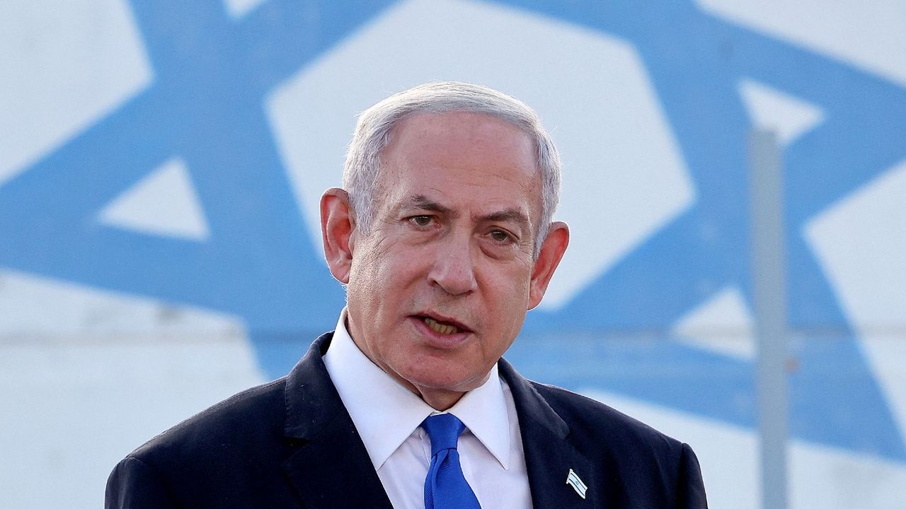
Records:
M750 295L750 121L737 81L755 79L826 113L785 152L790 322L798 331L835 329L794 345L790 431L906 462L891 411L802 237L810 218L903 158L902 88L689 3L498 3L632 43L698 189L695 206L561 310L530 313L510 360L567 387L755 426L752 363L665 341L673 323L721 288ZM343 296L305 235L264 97L389 4L270 0L236 21L220 2L133 2L154 82L0 187L0 266L242 316L262 367L284 374L311 338L333 327ZM111 199L175 155L198 189L209 241L97 222ZM640 327L659 338L627 346L595 332ZM575 331L569 348L556 336L563 330ZM639 360L650 371L626 372Z

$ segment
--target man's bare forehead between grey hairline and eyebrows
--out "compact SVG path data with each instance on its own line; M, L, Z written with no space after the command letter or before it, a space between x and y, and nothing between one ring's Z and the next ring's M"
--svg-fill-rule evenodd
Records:
M418 113L382 150L381 208L468 208L469 215L540 213L541 172L529 136L486 113ZM505 214L506 213L506 214Z

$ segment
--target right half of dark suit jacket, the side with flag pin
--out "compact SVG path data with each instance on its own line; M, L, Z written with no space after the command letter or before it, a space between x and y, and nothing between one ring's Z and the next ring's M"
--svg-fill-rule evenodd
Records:
M516 402L535 506L707 507L688 445L599 401L527 380L505 360L500 366ZM567 482L570 472L584 496L573 487L579 483Z

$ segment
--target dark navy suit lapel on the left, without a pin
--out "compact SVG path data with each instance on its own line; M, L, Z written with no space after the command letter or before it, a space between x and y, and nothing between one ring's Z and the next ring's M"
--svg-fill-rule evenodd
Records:
M284 474L306 508L385 507L381 479L323 363L331 334L314 341L286 380Z

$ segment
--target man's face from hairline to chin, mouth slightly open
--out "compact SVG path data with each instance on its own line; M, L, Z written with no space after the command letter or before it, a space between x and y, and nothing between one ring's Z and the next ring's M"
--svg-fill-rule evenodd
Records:
M425 113L381 156L371 231L351 236L348 326L382 370L448 406L436 396L481 385L544 293L534 144L488 115Z

